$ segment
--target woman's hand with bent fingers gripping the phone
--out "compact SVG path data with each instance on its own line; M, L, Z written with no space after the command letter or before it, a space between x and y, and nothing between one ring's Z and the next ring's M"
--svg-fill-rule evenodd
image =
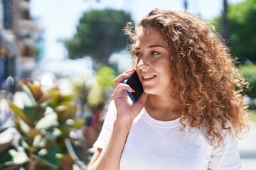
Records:
M134 69L129 69L114 79L113 98L117 108L117 120L122 121L122 123L129 123L129 125L132 125L134 118L142 111L147 97L147 94L143 93L136 103L132 103L129 99L127 91L134 92L134 90L129 85L124 84L124 80L131 76L133 72L135 72Z

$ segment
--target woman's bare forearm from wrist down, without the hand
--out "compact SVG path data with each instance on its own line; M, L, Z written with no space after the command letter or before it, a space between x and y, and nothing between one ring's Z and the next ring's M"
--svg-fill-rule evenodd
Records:
M107 146L102 150L99 157L91 162L88 169L119 169L119 162L121 159L122 151L124 149L127 135L131 125L126 125L122 121L115 120L110 140Z

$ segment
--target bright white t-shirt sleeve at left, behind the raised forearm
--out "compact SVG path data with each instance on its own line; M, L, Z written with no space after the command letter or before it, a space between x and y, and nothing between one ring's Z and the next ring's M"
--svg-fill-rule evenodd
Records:
M116 119L116 117L117 117L117 111L114 106L114 101L111 101L110 106L107 110L107 115L105 117L105 120L104 120L104 123L102 126L102 131L100 132L100 135L97 138L93 147L97 147L97 148L101 148L101 149L105 148L105 146L107 145L107 141L110 138L114 120Z

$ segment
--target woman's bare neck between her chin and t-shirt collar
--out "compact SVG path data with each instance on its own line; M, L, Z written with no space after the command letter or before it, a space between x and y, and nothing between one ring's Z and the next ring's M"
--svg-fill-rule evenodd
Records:
M181 116L180 103L170 96L149 95L145 108L149 115L156 120L170 121Z

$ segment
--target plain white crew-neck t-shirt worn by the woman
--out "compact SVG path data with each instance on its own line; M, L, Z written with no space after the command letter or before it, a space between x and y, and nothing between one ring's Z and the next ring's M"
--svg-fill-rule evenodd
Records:
M105 148L116 114L114 102L111 102L102 132L94 147ZM179 118L172 121L155 120L143 108L129 131L120 169L241 169L235 135L224 131L224 147L213 147L206 137L205 129L188 128L186 125L186 129L181 131L179 121Z

